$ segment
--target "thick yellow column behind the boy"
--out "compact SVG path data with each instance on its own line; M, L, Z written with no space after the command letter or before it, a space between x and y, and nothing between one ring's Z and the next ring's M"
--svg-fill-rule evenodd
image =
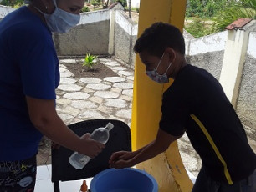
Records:
M171 23L182 30L186 10L186 0L141 0L138 37L152 23ZM151 81L145 74L145 67L136 56L132 108L132 148L139 149L156 138L158 123L161 119L162 93L170 86ZM177 143L153 159L138 164L152 174L159 185L159 192L189 192L192 182L182 164Z

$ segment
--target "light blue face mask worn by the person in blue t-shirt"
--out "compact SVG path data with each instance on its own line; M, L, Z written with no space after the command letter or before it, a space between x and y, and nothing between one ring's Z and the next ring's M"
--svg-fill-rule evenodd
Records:
M80 15L69 13L62 10L61 8L58 8L56 0L53 1L55 10L52 14L46 14L38 8L34 8L36 8L40 13L44 14L44 18L51 32L67 33L71 28L79 23Z

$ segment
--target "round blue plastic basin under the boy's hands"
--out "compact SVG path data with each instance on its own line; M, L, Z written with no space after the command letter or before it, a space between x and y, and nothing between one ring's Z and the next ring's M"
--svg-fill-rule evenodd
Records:
M106 169L90 183L91 192L157 192L156 179L140 169Z

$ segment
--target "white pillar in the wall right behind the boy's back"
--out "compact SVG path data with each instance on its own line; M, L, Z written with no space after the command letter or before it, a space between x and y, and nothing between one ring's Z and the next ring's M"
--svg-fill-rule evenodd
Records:
M255 23L256 21L253 20L243 28L228 30L228 40L226 42L223 68L219 82L222 84L223 90L234 108L238 99L243 64L248 48L248 36L256 28Z

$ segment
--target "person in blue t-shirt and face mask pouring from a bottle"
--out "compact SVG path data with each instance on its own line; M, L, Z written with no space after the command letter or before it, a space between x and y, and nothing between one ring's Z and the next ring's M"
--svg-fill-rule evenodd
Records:
M79 138L55 110L59 60L52 32L79 23L84 0L33 0L0 22L0 191L33 191L38 143L54 143L95 157L105 147Z

